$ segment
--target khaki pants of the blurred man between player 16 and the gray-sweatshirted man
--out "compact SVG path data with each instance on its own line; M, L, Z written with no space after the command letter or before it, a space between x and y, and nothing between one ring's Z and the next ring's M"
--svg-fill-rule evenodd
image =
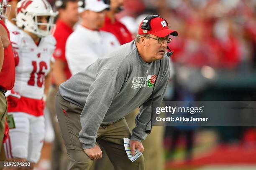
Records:
M59 123L56 120L55 112L55 95L58 87L51 86L46 101L46 107L50 112L51 124L54 129L55 139L51 150L51 170L67 170L69 159L67 157L67 150L61 136Z

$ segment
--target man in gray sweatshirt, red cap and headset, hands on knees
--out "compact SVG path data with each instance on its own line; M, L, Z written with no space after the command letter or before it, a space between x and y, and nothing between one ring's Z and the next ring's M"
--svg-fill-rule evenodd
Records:
M169 35L178 33L170 30L163 18L150 15L141 22L136 40L60 85L56 115L69 169L89 169L93 160L101 158L100 147L106 150L115 170L144 169L143 155L134 162L129 160L123 138L131 139L132 155L135 149L143 152L141 140L151 128L151 100L161 102L169 82ZM140 112L131 133L124 116L136 107Z

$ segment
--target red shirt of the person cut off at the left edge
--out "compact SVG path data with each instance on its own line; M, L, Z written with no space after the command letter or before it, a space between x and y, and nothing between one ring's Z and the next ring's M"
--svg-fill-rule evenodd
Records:
M10 32L6 28L3 21L0 20L0 24L3 25L3 27L7 31L8 39L10 40ZM0 87L2 87L4 90L11 90L14 86L15 81L15 62L11 43L8 47L4 49L4 51L4 62L2 70L0 72Z

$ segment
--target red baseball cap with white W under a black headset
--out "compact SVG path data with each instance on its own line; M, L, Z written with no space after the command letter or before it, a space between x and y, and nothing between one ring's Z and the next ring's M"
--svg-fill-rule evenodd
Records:
M139 29L138 29L139 35L152 34L157 37L166 37L167 35L173 35L175 37L178 36L178 32L174 31L174 30L170 30L168 28L168 24L166 23L166 21L161 17L153 18L150 21L150 23L149 23L150 30L141 29L141 25L142 25L143 21L141 22Z

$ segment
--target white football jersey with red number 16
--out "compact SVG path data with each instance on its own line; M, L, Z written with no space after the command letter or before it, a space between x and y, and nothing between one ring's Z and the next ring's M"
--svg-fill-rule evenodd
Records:
M13 31L10 32L10 40L19 56L13 90L24 97L41 99L45 76L50 70L50 59L55 50L55 38L52 35L43 37L37 46L26 32Z

